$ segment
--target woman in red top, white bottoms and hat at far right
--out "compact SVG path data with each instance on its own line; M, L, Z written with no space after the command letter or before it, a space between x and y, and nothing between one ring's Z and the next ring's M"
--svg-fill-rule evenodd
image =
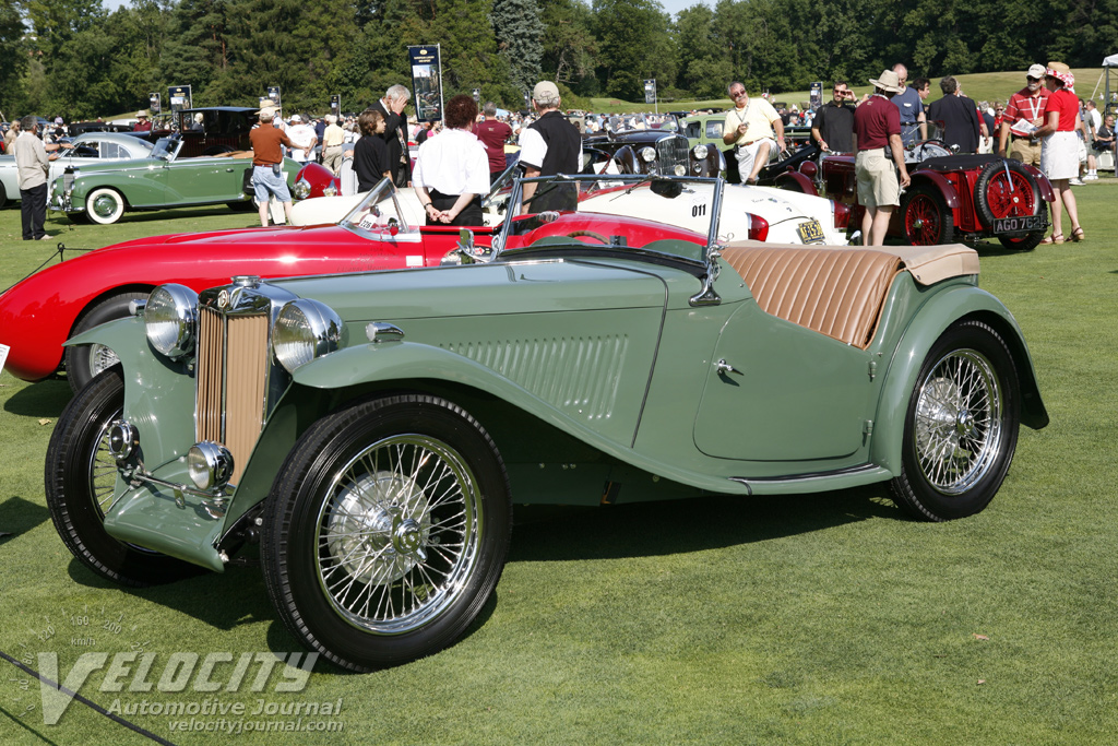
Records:
M1049 63L1044 85L1052 94L1044 110L1044 126L1036 131L1041 142L1041 171L1055 188L1052 204L1052 235L1042 244L1063 243L1063 208L1071 218L1072 240L1083 240L1083 229L1079 226L1079 210L1076 196L1071 193L1071 179L1079 176L1079 138L1076 122L1079 121L1079 98L1072 88L1076 77L1063 63Z

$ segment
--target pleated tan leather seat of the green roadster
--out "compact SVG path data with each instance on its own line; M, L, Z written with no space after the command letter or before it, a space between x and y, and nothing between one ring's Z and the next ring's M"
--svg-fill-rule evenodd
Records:
M896 254L864 248L727 247L722 259L757 304L821 334L865 349L900 271Z

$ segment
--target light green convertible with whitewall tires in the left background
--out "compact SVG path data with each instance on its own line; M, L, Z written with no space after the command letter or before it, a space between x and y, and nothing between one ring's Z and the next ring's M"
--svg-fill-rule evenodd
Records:
M101 225L116 223L130 210L220 204L253 209L250 158L236 152L180 158L182 147L180 138L164 138L144 159L67 168L51 181L50 209ZM284 159L288 186L299 169L300 163Z

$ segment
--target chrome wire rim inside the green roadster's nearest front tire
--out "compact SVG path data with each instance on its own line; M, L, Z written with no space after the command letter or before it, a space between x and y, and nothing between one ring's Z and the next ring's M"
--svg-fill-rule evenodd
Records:
M413 631L463 593L477 561L477 480L446 443L402 434L340 469L319 510L319 582L349 624Z

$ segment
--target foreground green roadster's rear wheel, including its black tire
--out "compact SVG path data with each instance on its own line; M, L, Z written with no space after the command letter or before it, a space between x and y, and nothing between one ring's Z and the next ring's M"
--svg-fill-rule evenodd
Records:
M991 327L964 321L945 331L909 400L901 474L891 483L898 506L944 521L989 504L1017 446L1020 390L1013 356Z

